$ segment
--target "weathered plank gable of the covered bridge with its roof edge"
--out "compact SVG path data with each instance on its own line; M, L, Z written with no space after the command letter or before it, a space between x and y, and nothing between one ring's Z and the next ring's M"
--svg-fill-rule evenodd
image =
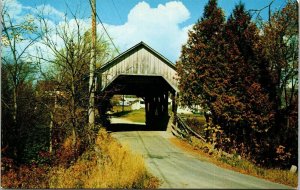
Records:
M102 80L99 80L102 88L106 88L118 75L132 74L162 76L178 91L174 64L143 42L117 56L98 72L102 73Z

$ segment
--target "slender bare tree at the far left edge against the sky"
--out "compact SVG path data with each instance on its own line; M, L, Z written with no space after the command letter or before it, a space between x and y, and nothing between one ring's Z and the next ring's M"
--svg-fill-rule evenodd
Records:
M1 12L1 38L4 45L1 60L3 61L3 67L6 67L9 72L9 78L13 86L13 120L16 124L18 88L20 84L32 76L34 71L34 65L27 57L27 50L40 36L36 33L37 27L34 24L33 17L27 16L22 21L17 22L11 16L4 5Z

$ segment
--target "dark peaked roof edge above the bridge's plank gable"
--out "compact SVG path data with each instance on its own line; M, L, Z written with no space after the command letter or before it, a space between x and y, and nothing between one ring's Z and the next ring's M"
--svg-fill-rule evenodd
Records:
M160 59L162 62L164 62L166 65L168 65L170 68L176 70L176 67L174 63L172 63L170 60L168 60L166 57L164 57L162 54L158 53L156 50L148 46L145 42L141 41L140 43L136 44L135 46L131 47L130 49L124 51L117 57L113 58L112 60L108 61L104 65L102 65L98 70L100 72L104 72L107 69L113 67L114 65L118 64L120 60L123 58L133 54L137 49L144 48L151 52L154 56L156 56L158 59Z

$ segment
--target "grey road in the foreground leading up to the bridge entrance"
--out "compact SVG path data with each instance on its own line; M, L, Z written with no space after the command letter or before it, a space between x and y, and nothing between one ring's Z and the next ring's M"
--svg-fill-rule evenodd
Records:
M112 135L145 157L149 171L163 181L161 188L290 188L201 161L173 145L169 138L174 137L164 131L114 132Z

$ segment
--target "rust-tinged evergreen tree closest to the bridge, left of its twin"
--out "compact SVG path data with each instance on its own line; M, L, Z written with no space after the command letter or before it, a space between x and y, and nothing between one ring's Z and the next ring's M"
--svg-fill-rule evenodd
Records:
M179 76L181 99L185 105L210 106L216 99L217 80L223 81L223 56L219 53L225 18L217 7L217 0L210 0L205 6L203 17L189 32L187 44L182 47L176 63ZM216 56L217 55L217 56Z

